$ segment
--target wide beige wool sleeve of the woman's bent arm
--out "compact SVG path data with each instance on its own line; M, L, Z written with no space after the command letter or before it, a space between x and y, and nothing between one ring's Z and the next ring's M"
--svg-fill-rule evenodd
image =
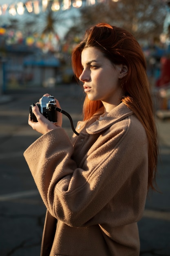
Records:
M96 141L81 168L62 128L42 135L24 152L52 216L74 227L106 219L112 226L126 225L141 218L148 179L146 133L141 124L134 132L129 118L124 122Z

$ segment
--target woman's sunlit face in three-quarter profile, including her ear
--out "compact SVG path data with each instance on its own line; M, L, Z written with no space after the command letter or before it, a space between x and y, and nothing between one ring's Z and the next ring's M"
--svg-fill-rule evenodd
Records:
M84 83L84 92L88 95L88 99L117 105L123 96L119 86L122 65L113 66L101 51L88 47L82 51L82 67L83 72L79 80Z

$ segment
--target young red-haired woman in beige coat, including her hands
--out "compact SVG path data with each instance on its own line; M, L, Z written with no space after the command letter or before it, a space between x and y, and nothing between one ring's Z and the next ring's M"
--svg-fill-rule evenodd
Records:
M100 23L72 64L86 93L79 136L68 138L61 113L57 125L37 106L38 122L29 117L43 134L24 152L47 208L41 255L137 256L137 221L157 166L144 54L128 31Z

